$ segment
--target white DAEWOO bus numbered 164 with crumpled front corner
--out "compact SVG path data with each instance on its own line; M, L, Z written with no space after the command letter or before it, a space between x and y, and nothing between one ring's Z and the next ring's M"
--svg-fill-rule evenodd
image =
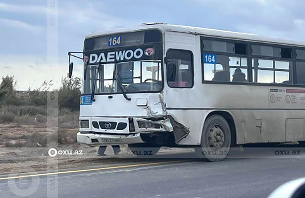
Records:
M232 146L305 141L305 42L152 23L89 34L78 53L78 143L217 161Z

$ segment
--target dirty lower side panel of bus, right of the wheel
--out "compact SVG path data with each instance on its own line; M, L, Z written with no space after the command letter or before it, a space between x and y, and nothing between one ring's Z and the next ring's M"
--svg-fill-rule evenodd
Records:
M304 110L233 110L237 143L305 140Z

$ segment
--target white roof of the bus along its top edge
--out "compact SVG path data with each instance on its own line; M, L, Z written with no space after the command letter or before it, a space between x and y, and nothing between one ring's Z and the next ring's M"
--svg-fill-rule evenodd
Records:
M225 39L237 39L243 41L305 47L305 41L266 37L266 36L260 36L250 33L232 32L226 30L216 30L216 29L208 29L208 28L200 28L200 27L183 26L183 25L169 25L164 23L142 24L133 28L114 29L104 32L92 32L91 34L86 36L86 39L91 37L119 33L119 32L120 33L133 32L133 31L147 30L147 29L159 29L161 31L174 31L174 32L189 33L189 34L199 34L202 36L225 38Z

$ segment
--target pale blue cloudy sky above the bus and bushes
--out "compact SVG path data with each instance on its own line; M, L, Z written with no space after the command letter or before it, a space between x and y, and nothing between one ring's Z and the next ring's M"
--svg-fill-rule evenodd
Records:
M302 0L0 0L0 77L14 76L17 90L60 86L67 52L81 51L87 34L142 22L305 41L304 8Z

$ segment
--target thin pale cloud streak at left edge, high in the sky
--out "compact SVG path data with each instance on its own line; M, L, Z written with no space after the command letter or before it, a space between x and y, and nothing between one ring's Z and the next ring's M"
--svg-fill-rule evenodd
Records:
M7 18L0 18L0 25L2 26L2 28L3 28L3 25L5 25L8 27L22 29L22 30L33 32L33 33L39 33L43 29L41 26L32 25L32 24L29 24L29 23L26 23L26 22L23 22L20 20L7 19Z

